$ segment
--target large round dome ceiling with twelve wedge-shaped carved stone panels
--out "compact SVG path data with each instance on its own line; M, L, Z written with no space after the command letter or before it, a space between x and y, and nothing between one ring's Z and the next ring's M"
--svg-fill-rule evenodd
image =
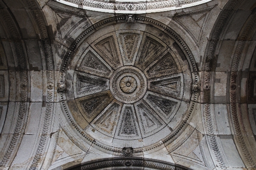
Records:
M79 133L98 146L132 147L138 154L149 146L162 149L193 112L197 92L191 85L199 79L190 68L193 57L186 57L175 37L149 28L104 26L79 40L61 75L68 87L64 108Z

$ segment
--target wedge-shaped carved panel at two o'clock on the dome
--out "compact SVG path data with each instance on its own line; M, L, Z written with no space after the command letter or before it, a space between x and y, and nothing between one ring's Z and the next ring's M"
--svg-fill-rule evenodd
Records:
M177 63L170 52L167 52L159 61L147 70L149 76L159 75L178 70Z

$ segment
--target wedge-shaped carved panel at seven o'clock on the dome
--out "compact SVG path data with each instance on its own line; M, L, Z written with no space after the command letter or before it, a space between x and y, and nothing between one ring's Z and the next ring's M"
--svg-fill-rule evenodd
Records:
M114 126L116 125L119 107L119 104L114 103L109 109L106 110L106 112L103 113L103 115L100 116L100 118L97 119L97 121L95 121L94 124L100 130L112 135Z

